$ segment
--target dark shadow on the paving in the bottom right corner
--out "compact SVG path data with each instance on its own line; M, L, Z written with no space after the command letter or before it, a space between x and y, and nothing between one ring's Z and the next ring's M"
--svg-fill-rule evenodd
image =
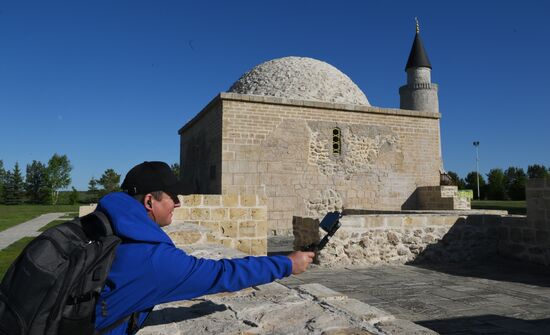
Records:
M523 320L500 315L478 315L449 319L415 321L439 334L548 335L550 318Z

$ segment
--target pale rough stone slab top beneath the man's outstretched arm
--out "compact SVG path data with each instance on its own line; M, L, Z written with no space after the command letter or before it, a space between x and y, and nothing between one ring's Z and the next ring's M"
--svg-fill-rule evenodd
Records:
M192 255L208 258L243 255L236 250L215 245L193 245L185 249ZM292 279L290 278L291 281ZM298 285L296 289L290 289L274 282L234 293L221 293L159 305L155 307L145 327L138 334L436 333L408 320L395 318L387 311L349 298L320 284L303 284Z

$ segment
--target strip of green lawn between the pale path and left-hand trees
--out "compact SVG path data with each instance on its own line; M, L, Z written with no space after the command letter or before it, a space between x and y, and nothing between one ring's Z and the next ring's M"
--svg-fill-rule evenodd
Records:
M78 212L80 205L0 205L0 231L46 213ZM76 215L76 214L75 214Z

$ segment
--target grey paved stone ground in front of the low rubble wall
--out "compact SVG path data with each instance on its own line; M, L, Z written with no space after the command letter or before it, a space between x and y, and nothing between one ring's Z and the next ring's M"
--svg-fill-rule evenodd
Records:
M508 260L316 267L280 283L319 283L440 334L550 334L550 269Z

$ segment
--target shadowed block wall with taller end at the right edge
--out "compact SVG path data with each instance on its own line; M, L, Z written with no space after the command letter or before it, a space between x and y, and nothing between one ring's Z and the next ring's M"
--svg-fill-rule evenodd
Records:
M499 253L550 265L550 179L530 179L526 185L527 220L504 217Z

